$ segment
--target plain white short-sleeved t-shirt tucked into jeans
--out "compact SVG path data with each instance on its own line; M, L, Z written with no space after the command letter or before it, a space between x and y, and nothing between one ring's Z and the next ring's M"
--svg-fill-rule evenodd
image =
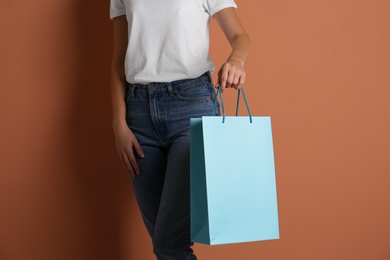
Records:
M209 56L209 23L234 0L111 0L110 19L126 15L129 83L196 78L215 67Z

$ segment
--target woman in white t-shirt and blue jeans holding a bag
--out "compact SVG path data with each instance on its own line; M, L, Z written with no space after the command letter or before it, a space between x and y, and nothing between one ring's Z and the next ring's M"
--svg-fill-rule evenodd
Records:
M196 259L189 119L210 115L216 99L208 53L213 17L232 46L217 83L222 90L244 84L250 40L236 7L234 0L111 0L116 149L159 260Z

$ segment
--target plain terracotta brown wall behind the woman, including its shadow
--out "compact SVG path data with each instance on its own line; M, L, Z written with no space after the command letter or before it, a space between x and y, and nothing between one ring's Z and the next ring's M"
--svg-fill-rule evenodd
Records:
M197 245L199 259L390 259L390 2L237 4L248 99L272 117L281 238ZM153 259L111 130L108 10L2 2L2 260ZM229 46L212 26L219 67Z

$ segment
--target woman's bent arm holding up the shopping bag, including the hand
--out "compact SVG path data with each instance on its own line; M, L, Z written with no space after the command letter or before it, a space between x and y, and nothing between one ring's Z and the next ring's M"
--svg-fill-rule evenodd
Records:
M233 8L225 8L214 15L232 46L232 52L218 72L218 83L225 88L239 89L244 85L244 65L250 49L249 35Z

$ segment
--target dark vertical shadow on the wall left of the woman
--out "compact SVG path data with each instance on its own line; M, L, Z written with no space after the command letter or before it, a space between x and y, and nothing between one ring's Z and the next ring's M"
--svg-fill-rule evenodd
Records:
M143 226L115 150L111 127L110 64L112 22L109 1L74 1L75 67L77 75L67 137L75 185L86 209L88 259L125 260L135 251L135 230ZM129 218L131 220L129 221ZM129 248L129 250L126 250Z

